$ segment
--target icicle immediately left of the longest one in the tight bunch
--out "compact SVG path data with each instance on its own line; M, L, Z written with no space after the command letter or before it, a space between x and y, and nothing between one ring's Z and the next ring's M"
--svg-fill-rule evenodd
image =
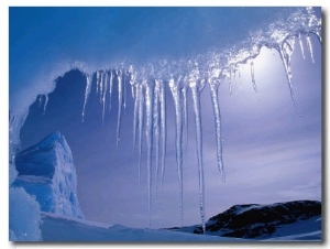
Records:
M144 119L144 94L143 94L143 85L139 84L138 85L138 98L139 98L139 141L138 141L138 148L139 148L139 162L138 162L138 167L139 167L139 187L141 186L141 159L142 159L142 130L143 130L143 119Z

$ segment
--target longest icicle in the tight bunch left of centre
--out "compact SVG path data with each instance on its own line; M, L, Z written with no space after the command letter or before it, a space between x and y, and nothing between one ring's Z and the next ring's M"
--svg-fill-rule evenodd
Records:
M145 88L145 134L147 147L147 196L148 196L148 212L150 212L150 225L152 210L152 151L153 151L153 83L148 82Z

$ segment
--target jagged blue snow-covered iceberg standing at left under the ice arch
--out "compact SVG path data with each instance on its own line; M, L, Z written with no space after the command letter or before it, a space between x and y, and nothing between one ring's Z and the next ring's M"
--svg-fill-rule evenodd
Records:
M55 131L15 156L19 172L12 186L34 195L41 210L84 218L77 198L73 154L64 136Z

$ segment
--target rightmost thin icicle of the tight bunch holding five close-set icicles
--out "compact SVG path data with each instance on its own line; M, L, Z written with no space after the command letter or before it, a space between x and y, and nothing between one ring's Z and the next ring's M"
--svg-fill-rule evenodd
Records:
M166 90L165 85L161 82L160 102L161 102L161 139L162 139L162 159L161 159L161 185L163 190L165 158L166 158Z

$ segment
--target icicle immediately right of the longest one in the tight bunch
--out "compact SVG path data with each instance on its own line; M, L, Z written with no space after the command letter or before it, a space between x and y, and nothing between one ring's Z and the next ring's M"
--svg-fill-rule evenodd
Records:
M154 139L155 139L155 152L156 152L156 201L157 201L157 195L158 195L158 181L157 177L160 175L160 91L161 91L161 80L155 79L155 88L154 88L154 109L153 109L153 133L154 133Z

